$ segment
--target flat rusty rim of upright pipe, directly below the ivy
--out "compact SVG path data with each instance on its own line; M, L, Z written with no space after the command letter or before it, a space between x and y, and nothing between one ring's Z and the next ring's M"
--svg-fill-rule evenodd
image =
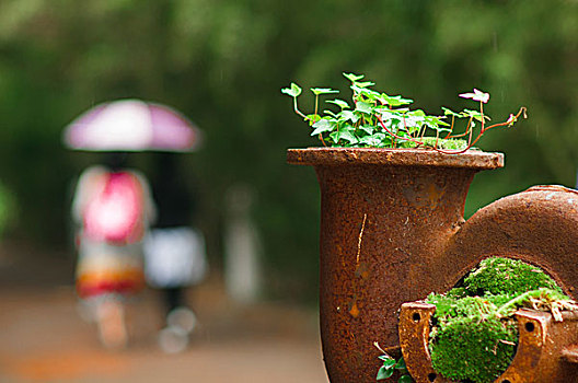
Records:
M305 148L288 149L287 162L294 165L420 165L490 170L504 166L504 154L469 150L443 154L428 149Z

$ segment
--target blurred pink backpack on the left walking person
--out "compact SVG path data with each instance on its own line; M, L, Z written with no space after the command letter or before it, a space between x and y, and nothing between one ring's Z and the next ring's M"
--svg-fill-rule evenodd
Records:
M105 179L84 210L84 234L118 245L140 241L144 201L139 179L128 172L109 173Z

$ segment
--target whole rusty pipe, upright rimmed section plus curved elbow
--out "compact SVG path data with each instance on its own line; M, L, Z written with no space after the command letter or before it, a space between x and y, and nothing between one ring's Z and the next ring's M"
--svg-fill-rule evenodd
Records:
M320 318L333 383L374 382L382 348L398 347L398 310L444 292L489 256L542 267L576 298L578 195L543 186L502 198L467 222L476 172L500 153L401 149L290 149L321 188Z

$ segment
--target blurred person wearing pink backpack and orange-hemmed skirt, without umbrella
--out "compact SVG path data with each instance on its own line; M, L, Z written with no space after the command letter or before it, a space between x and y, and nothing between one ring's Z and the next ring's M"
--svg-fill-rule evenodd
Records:
M154 207L144 177L125 167L126 153L80 176L72 217L77 223L77 292L108 348L128 340L125 301L144 286L142 241Z

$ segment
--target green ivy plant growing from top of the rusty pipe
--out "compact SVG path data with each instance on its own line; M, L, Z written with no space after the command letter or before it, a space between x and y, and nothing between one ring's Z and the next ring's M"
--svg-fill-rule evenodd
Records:
M487 130L511 127L521 116L525 118L525 108L521 107L518 114L510 114L506 121L487 125L489 117L484 114L484 104L489 101L489 94L477 89L460 96L478 103L478 111L453 112L442 107L443 114L428 115L423 109L411 109L408 105L413 100L372 90L374 83L363 81L362 74L344 73L344 77L350 82L351 103L343 98L326 100L325 103L333 109L327 108L322 113L320 98L339 91L312 88L314 111L304 114L298 106L302 89L296 83L281 89L281 93L293 98L294 112L311 126L311 136L319 137L325 147L430 148L442 153L462 153L472 148ZM461 131L456 128L459 120L465 125Z

